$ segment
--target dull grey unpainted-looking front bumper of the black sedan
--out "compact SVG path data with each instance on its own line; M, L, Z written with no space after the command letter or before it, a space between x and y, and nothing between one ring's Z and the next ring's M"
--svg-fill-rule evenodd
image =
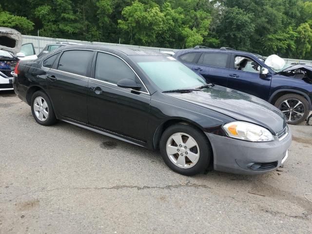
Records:
M269 142L250 142L206 133L214 152L214 169L240 175L264 174L282 165L292 142L287 137Z

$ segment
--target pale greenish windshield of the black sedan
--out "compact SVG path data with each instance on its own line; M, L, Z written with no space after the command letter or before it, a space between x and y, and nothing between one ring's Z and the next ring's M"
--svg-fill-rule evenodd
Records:
M163 91L189 89L207 82L172 57L133 56L144 73Z

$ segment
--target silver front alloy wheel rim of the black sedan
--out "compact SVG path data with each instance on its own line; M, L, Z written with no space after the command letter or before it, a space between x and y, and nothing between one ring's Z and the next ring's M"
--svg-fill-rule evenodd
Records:
M176 133L169 137L166 151L171 162L180 168L191 168L199 159L197 142L185 133Z

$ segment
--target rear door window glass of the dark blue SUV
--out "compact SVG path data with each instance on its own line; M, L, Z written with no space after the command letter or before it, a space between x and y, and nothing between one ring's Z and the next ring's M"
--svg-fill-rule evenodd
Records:
M198 60L199 64L226 68L229 56L225 53L203 53Z

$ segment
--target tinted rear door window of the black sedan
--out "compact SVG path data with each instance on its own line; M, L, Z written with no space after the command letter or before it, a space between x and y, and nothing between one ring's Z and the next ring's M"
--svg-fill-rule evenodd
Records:
M87 76L88 64L93 51L68 50L59 59L58 70Z

